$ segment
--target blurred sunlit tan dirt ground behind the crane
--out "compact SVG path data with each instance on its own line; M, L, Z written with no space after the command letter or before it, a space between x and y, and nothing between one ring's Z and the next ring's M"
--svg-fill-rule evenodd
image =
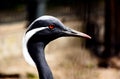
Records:
M38 79L36 68L27 64L22 55L25 25L26 21L0 25L0 77L1 74L17 74L14 79ZM65 25L79 29L77 26L82 24L70 21L65 22ZM120 79L120 70L96 66L97 60L84 48L83 40L73 37L59 38L46 47L46 59L54 79Z

